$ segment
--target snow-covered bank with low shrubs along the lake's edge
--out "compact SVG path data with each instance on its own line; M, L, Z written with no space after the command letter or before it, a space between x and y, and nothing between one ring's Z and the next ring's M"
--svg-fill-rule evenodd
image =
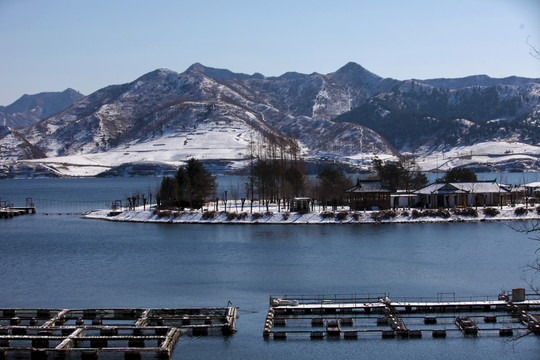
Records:
M112 213L95 210L84 216L119 222L173 223L173 224L376 224L427 222L483 222L540 220L540 207L465 208L438 210L386 210L386 211L322 211L307 214L295 212L225 212L225 211L173 211L126 210Z

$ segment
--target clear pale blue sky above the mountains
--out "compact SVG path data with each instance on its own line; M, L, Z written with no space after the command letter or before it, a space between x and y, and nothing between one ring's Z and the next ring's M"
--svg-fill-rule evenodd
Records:
M0 0L0 105L191 64L540 78L540 0Z

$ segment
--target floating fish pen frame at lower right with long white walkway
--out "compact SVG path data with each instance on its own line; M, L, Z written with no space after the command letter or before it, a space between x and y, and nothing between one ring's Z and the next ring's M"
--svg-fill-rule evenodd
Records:
M536 313L536 314L533 314ZM513 289L495 299L392 298L387 294L270 296L263 337L446 338L540 335L540 297Z

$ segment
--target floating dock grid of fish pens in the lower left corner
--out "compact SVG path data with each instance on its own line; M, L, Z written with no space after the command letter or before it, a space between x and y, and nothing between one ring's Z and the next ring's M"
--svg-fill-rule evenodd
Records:
M169 359L184 335L236 332L236 307L0 309L0 360Z

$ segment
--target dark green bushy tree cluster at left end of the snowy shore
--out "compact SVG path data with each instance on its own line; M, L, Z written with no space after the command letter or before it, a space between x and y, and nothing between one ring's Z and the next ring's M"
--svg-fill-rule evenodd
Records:
M174 178L163 178L158 206L200 209L216 187L216 177L205 169L201 161L191 158L185 166L178 168Z

